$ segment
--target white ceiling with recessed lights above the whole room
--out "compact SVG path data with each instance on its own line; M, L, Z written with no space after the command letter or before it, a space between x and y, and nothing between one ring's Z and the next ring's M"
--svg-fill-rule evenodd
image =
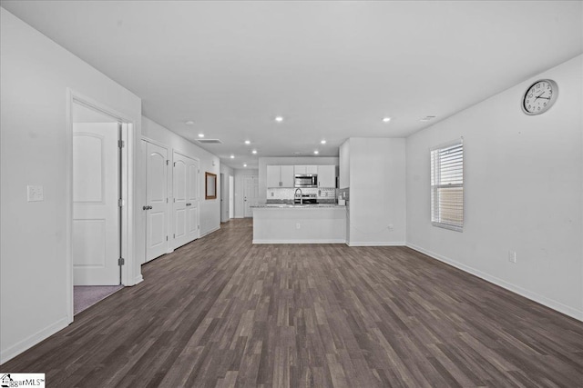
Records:
M141 97L148 118L222 140L202 147L234 168L334 156L351 136L403 137L517 85L583 53L582 5L2 2Z

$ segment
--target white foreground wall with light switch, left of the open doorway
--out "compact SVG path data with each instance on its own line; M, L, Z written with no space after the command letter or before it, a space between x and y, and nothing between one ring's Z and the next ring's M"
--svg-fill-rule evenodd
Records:
M0 363L5 363L70 322L67 88L134 120L137 139L141 101L4 8L0 17ZM27 184L42 185L45 200L26 202Z

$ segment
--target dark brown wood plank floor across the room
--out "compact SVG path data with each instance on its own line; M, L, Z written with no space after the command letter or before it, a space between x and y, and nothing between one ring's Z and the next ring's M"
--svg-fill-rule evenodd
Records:
M406 247L253 245L251 221L0 368L47 386L580 387L583 323Z

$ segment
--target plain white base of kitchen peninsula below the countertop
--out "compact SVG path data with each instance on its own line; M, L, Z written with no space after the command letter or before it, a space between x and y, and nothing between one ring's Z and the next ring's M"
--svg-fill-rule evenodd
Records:
M346 208L260 205L253 210L253 244L344 244Z

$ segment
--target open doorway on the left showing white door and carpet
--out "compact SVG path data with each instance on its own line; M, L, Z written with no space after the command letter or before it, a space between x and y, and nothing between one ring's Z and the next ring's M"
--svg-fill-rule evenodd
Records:
M128 253L130 123L107 108L70 93L67 220L73 316L123 288Z

